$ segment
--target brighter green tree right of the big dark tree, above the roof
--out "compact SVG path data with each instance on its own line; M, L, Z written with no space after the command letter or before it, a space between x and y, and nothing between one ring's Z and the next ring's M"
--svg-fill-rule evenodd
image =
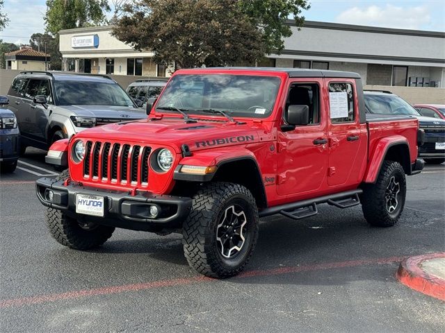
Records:
M241 0L238 6L250 17L252 24L261 30L266 53L282 51L284 37L292 35L286 21L291 18L300 28L305 22L302 10L310 8L307 0Z

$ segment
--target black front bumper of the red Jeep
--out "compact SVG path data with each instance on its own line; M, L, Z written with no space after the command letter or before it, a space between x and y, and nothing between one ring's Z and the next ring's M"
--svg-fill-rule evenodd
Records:
M35 182L35 190L40 203L47 207L62 210L79 221L117 228L156 232L165 228L180 228L191 209L192 199L180 196L155 196L140 191L135 196L128 191L99 190L74 183L64 185L63 180L40 178ZM50 201L47 191L53 192ZM76 194L104 197L104 217L76 213ZM150 217L149 206L156 205L161 213Z

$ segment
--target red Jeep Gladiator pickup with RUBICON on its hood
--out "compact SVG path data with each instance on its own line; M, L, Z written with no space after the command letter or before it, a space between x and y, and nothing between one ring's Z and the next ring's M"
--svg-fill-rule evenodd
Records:
M181 69L147 114L51 146L47 160L68 169L36 192L60 244L100 246L115 228L182 232L195 271L226 278L250 259L261 217L361 203L389 227L405 175L423 169L417 119L366 119L355 73Z

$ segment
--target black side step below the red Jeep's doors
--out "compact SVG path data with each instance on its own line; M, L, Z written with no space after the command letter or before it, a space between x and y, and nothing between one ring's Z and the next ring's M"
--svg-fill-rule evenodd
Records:
M335 205L337 207L340 207L340 205L342 206L341 208L352 207L352 206L359 204L359 200L358 200L357 196L362 193L363 193L362 189L353 189L352 191L345 191L345 192L341 192L341 193L337 193L337 194L331 194L329 196L319 196L318 198L296 201L295 203L285 203L284 205L277 205L277 206L268 207L268 208L265 208L264 210L261 210L259 212L259 217L270 216L270 215L275 215L275 214L282 214L282 212L293 215L293 213L296 212L296 210L298 210L300 208L306 207L306 209L307 209L307 207L314 207L313 205L318 205L319 203L332 202L331 205ZM307 212L307 210L306 210L306 213L309 214L309 212ZM300 212L302 212L302 211L300 211ZM316 207L315 207L315 210L314 210L314 208L312 208L312 212L310 213L312 215L309 215L309 216L315 215L314 212L316 212ZM289 217L289 215L286 215L286 214L283 214L283 215ZM299 214L299 213L297 214L297 216L301 216L301 215L302 214ZM308 216L305 216L305 217L308 217ZM291 219L294 219L294 218L295 218L295 216L291 217ZM302 219L302 217L300 217L300 219Z

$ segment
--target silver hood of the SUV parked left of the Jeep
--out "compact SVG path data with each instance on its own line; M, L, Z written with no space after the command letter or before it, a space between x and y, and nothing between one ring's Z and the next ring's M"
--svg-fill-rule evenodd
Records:
M60 105L59 108L69 110L77 116L122 119L145 119L147 114L143 108L130 108L114 105Z

